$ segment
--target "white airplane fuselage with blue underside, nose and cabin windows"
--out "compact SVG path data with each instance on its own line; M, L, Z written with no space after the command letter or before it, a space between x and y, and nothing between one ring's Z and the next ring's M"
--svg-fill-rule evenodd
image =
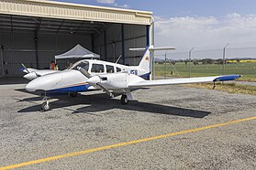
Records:
M150 62L149 58L146 58L144 62ZM95 86L90 86L86 82L86 80L88 79L84 77L79 70L77 70L78 66L86 69L92 76L122 72L138 75L145 80L149 80L150 78L150 69L145 69L145 67L143 68L139 66L125 66L102 60L83 59L76 62L70 69L53 72L40 76L37 79L31 80L27 84L26 90L42 90L46 93L82 92L87 90L97 90Z

